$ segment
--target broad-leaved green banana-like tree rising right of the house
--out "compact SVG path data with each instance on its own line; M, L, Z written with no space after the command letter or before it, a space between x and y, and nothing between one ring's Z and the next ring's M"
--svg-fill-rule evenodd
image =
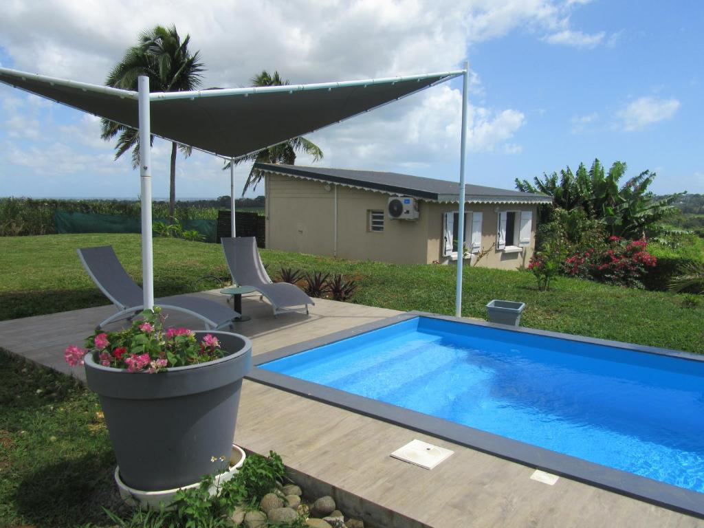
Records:
M626 163L616 161L608 173L595 159L589 170L580 163L577 173L567 167L560 175L553 172L534 177L533 183L516 178L516 188L522 192L541 192L553 197L553 207L565 210L567 215L579 210L589 220L597 220L611 236L641 238L646 229L657 230L657 224L676 211L674 201L680 194L657 198L648 187L655 179L655 172L644 170L619 187L627 170ZM546 220L549 210L543 210Z

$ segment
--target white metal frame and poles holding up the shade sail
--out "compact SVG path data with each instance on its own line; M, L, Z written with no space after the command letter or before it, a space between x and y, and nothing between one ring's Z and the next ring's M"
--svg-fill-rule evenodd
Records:
M328 127L330 125L334 125L336 122L341 122L342 120L346 120L348 118L351 118L355 115L359 115L360 113L365 113L368 111L371 111L374 108L380 108L381 106L385 106L386 104L389 104L394 101L398 101L399 99L403 99L403 97L409 96L411 94L415 94L416 92L420 91L421 89L426 89L429 87L434 86L435 84L439 84L441 82L445 82L447 80L453 79L454 77L463 77L463 106L462 106L462 132L461 132L461 138L460 138L460 218L462 218L464 209L465 209L465 152L466 152L466 143L467 143L467 87L469 85L469 64L467 62L464 63L464 68L463 70L453 70L453 71L448 71L444 73L427 73L423 75L407 75L403 77L385 77L381 79L367 79L367 80L358 80L358 81L344 81L344 82L324 82L324 83L317 83L317 84L287 84L285 86L275 86L275 87L250 87L250 88L225 88L225 89L212 89L212 90L198 90L194 92L150 92L149 91L149 77L146 76L140 76L139 81L138 81L138 86L139 89L137 92L133 92L130 90L122 90L122 89L116 89L116 88L111 88L111 87L105 87L101 86L99 84L89 84L85 82L77 82L77 81L72 81L72 80L64 80L64 79L59 79L57 77L49 77L45 75L39 75L39 74L32 74L32 73L26 73L26 72L21 72L18 70L11 70L8 68L0 68L0 82L3 82L4 84L9 84L15 88L18 89L23 89L26 92L30 92L33 94L37 94L39 96L44 97L45 99L51 99L52 101L56 101L57 103L64 104L65 106L71 106L73 108L77 108L78 110L89 112L88 110L85 110L84 108L80 108L79 106L72 105L70 103L67 103L65 101L60 101L58 99L54 99L51 96L48 96L46 94L43 94L42 92L34 92L30 87L27 87L26 84L27 82L39 82L40 84L43 84L44 87L48 84L51 87L59 86L59 87L70 87L74 89L80 89L82 92L92 92L94 94L106 94L109 96L117 96L118 99L124 100L124 99L130 99L130 100L136 100L138 102L138 111L139 111L139 137L140 137L140 142L139 142L139 175L140 175L140 187L141 187L141 199L142 199L142 280L144 284L144 306L146 307L152 307L153 302L154 302L154 293L153 293L153 250L152 250L152 234L151 234L151 141L149 138L151 135L156 135L158 137L162 137L163 139L167 139L168 141L177 141L176 139L168 137L168 134L152 134L151 132L151 105L156 104L158 105L159 103L163 101L173 101L176 99L190 99L191 101L194 101L196 99L206 99L210 97L215 97L215 96L242 96L242 97L249 97L249 96L256 96L260 94L272 94L272 93L281 93L281 92L289 92L289 94L294 94L296 92L310 92L314 90L325 90L325 91L332 91L333 89L339 89L339 88L349 88L349 87L369 87L369 86L376 86L380 84L391 84L392 86L396 83L403 82L403 83L408 83L408 82L413 82L414 80L416 82L421 82L422 80L429 80L432 78L436 78L434 82L428 83L420 87L419 89L412 90L406 94L401 94L401 96L397 96L394 99L386 99L386 102L384 103L379 103L375 104L374 106L369 106L363 111L358 111L356 113L352 113L351 115L347 115L343 119L340 120L332 120L330 122L327 122L326 125L314 127L312 130L308 130L307 132L303 133L310 133L310 132L315 132L317 130L322 130L322 128ZM14 82L13 82L14 81ZM106 117L103 115L100 115L100 117ZM109 118L113 121L115 119ZM119 122L119 121L115 121ZM120 123L121 125L127 126L127 127L134 127L133 125L127 125L126 123L122 122ZM300 134L297 134L300 135ZM291 138L289 138L291 139ZM284 139L285 141L285 139ZM181 143L181 142L179 142ZM226 160L230 161L230 208L232 210L232 236L235 236L235 214L234 214L234 206L235 206L235 199L234 199L234 163L233 161L236 161L239 158L249 156L252 153L258 152L262 149L269 148L271 146L274 146L276 144L281 143L281 141L277 141L273 144L264 144L261 146L258 146L256 150L249 151L247 153L242 154L241 156L237 156L236 158L233 158L232 156L223 156L222 154L213 152L213 151L208 151L207 149L203 149L199 147L197 144L190 145L192 148L196 150L200 150L203 152L207 152L210 154L213 154L215 156L218 156L220 158L224 158ZM459 227L458 227L458 239L460 241L463 241L464 239L464 225L463 222L460 222ZM457 284L456 284L456 289L455 289L455 315L461 316L462 313L462 273L463 273L463 259L459 258L457 262Z

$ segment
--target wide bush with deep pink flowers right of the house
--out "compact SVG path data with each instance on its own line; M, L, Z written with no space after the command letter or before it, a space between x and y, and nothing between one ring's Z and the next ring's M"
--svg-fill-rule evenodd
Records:
M565 259L563 270L572 277L591 278L626 287L643 287L641 279L657 259L645 239L609 237L605 249L588 249Z

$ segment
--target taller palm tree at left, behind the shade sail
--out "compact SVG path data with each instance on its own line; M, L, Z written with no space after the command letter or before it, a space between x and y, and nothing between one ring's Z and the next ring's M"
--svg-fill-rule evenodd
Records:
M137 77L147 75L152 92L187 92L201 85L203 63L199 62L199 51L191 54L188 44L190 35L184 39L176 27L162 27L144 31L139 35L139 44L125 52L122 60L108 74L105 84L114 88L137 90ZM119 135L118 135L119 134ZM115 144L115 159L132 149L132 168L139 165L139 132L119 125L111 120L101 120L101 138L108 140L118 136ZM153 137L151 137L153 142ZM171 166L169 187L169 217L174 222L176 207L176 151L191 155L191 147L171 143Z

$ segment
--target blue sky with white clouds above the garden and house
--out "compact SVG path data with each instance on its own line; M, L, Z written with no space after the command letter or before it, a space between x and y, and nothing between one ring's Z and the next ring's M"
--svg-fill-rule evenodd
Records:
M513 189L599 158L627 162L627 177L656 172L658 194L704 193L700 0L4 0L0 65L103 84L142 30L172 24L201 52L206 87L248 86L261 70L305 84L469 61L467 182ZM439 84L308 134L317 165L457 180L461 89ZM169 157L157 139L155 198L168 196ZM114 160L98 118L0 85L0 196L136 199L129 158ZM229 194L222 165L180 156L177 198ZM235 171L238 193L249 169Z

